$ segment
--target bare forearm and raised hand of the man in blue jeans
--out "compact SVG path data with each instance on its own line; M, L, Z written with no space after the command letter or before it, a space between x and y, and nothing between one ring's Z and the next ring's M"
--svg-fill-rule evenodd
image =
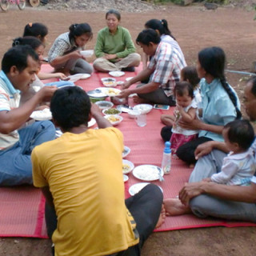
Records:
M0 111L0 133L10 134L22 126L41 102L47 102L57 90L56 86L45 86L22 106L10 111Z

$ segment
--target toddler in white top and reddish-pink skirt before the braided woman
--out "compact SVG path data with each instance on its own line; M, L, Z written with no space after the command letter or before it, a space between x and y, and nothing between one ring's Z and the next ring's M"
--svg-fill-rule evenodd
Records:
M198 106L194 98L194 88L189 82L177 82L174 87L174 95L177 106L174 110L174 116L170 116L173 119L170 143L172 153L175 155L179 146L194 140L198 136L198 130L186 130L178 125L181 120L192 122L196 116Z

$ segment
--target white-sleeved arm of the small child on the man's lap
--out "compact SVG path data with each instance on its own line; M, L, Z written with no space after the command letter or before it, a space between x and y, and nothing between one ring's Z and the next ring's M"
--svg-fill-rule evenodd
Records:
M234 177L234 174L238 170L238 166L232 160L225 159L222 165L222 171L218 174L213 174L210 179L212 182L226 184L226 182L229 182Z

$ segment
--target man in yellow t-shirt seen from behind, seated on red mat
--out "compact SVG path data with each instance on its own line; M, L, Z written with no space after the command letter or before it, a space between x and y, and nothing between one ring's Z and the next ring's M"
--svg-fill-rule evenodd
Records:
M35 147L31 159L34 186L46 196L54 255L139 255L158 222L161 190L146 186L125 201L122 133L90 105L84 90L57 90L50 110L64 134ZM88 129L92 116L100 129Z

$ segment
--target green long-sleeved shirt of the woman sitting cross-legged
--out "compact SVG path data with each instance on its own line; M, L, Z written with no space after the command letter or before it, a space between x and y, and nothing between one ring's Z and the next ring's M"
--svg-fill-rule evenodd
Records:
M126 58L136 51L130 32L122 26L118 26L115 34L111 34L106 26L98 31L94 53L97 58L104 54L117 54L117 58ZM113 61L113 60L112 60Z

